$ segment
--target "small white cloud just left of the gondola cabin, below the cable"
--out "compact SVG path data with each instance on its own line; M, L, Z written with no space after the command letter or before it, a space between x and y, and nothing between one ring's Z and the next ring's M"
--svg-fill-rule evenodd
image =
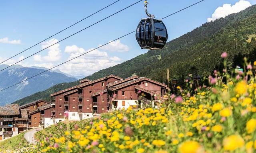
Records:
M109 41L110 42L110 41ZM101 45L99 45L101 46ZM117 52L127 52L129 51L129 47L120 42L120 40L113 41L108 45L100 47L100 49L108 50L108 51L117 51Z

